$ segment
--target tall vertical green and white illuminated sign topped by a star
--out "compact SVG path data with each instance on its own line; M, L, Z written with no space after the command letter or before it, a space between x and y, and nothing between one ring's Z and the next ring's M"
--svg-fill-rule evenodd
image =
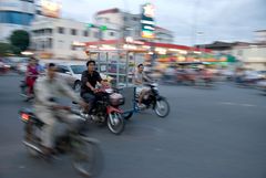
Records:
M142 27L142 31L141 31L141 35L142 38L146 38L146 39L153 39L155 38L155 33L154 33L154 6L151 3L146 3L144 6L142 6L142 19L141 19L141 27Z

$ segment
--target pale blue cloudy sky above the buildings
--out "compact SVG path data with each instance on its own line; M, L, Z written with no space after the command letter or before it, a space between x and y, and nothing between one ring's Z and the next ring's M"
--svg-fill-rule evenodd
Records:
M140 13L146 2L155 6L156 25L173 31L177 44L253 42L254 31L266 30L266 0L61 0L62 17L92 22L96 11Z

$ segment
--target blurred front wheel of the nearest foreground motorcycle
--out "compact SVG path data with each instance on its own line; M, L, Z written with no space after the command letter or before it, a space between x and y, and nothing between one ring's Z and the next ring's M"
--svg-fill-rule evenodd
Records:
M104 167L103 154L99 144L93 138L74 142L72 165L84 177L98 177Z

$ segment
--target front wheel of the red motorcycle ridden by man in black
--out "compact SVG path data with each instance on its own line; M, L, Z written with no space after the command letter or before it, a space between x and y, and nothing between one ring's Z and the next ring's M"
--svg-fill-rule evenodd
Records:
M108 127L111 133L120 135L124 130L124 118L121 113L110 113L108 116Z

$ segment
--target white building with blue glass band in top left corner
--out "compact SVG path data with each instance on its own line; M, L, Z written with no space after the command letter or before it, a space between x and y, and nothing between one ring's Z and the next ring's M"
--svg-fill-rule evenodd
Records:
M29 31L34 15L34 0L0 0L0 42L8 42L14 30Z

